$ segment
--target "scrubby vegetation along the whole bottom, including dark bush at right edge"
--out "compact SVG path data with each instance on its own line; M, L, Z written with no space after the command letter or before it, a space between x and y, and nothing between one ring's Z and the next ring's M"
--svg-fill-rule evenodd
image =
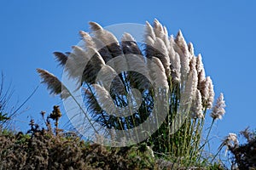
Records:
M44 112L42 116L44 116ZM45 119L45 117L43 117ZM232 167L221 161L184 166L181 160L155 153L146 143L108 147L80 139L77 133L58 129L46 118L45 127L30 122L27 133L0 128L0 169L255 169L256 133L241 131L247 143L230 133L222 146L231 153ZM55 124L52 126L52 124ZM57 131L56 131L57 130ZM59 133L56 133L59 132ZM238 167L239 168L238 168Z

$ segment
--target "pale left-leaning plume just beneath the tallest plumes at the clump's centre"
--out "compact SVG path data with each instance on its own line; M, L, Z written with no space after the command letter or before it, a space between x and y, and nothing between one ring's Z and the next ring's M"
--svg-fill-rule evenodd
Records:
M153 62L153 63L151 63ZM165 68L162 65L160 59L152 57L151 62L149 62L148 69L150 77L152 78L154 84L160 84L162 88L169 88L167 77L165 73Z

